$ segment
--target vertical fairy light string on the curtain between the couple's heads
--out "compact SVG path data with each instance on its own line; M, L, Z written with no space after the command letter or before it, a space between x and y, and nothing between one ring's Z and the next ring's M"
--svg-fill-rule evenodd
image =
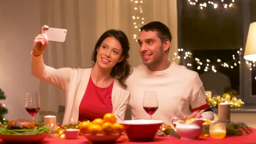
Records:
M140 27L144 24L145 18L143 17L143 0L131 0L134 4L133 11L134 14L132 16L134 29L140 31ZM133 39L137 40L137 34L133 34Z

